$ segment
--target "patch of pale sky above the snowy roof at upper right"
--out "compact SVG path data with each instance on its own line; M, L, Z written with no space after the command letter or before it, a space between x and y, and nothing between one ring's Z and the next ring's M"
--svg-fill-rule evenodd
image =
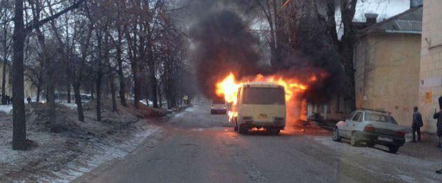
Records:
M374 12L379 14L379 19L382 20L410 8L410 0L360 0L356 8L355 19L358 21L365 21L364 14L367 12Z

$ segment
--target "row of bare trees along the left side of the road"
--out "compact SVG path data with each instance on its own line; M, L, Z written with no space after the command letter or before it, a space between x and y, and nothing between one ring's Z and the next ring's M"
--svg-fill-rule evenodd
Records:
M61 131L56 91L70 96L73 88L83 122L82 91L95 96L98 121L104 96L110 95L117 111L117 100L128 105L126 96L133 96L136 108L142 99L151 99L154 108L164 103L173 108L184 94L195 93L185 61L188 40L167 1L0 0L0 5L0 57L5 66L12 61L13 149L27 148L23 79L37 90L37 101L46 97L53 132Z

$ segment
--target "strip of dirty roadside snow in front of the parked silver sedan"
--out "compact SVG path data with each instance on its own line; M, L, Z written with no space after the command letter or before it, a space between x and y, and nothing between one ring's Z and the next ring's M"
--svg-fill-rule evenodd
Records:
M365 171L376 173L384 177L394 177L401 182L441 182L434 170L440 168L440 161L423 160L403 153L392 154L382 151L381 148L354 147L346 142L333 142L332 137L311 137L317 142L332 148L339 156L340 161ZM383 173L379 173L382 168Z

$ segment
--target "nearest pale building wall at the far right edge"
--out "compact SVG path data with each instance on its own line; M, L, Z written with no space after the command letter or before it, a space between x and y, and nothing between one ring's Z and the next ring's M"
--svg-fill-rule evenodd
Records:
M423 31L421 46L421 75L419 106L424 120L424 130L435 132L434 110L439 110L438 98L442 95L442 1L423 2Z

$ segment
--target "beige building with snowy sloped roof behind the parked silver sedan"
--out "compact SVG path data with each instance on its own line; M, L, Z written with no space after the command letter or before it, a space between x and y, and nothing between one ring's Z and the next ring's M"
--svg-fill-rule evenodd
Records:
M387 110L411 126L419 104L422 6L376 23L367 14L355 46L356 108Z

